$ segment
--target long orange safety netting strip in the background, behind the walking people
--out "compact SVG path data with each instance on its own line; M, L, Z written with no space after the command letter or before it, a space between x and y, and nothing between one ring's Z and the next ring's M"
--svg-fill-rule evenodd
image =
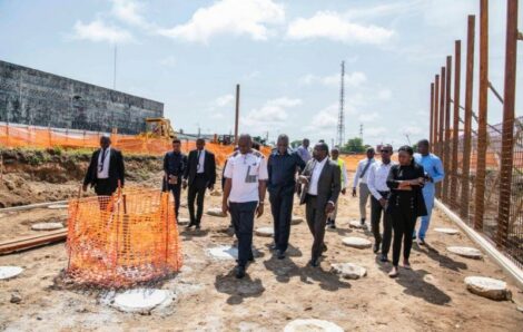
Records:
M0 124L0 146L6 147L39 147L39 148L98 148L100 146L101 133L42 128L32 126L17 126ZM150 138L140 135L111 134L112 146L124 154L141 154L161 156L172 148L169 139ZM196 140L182 139L181 150L188 153L196 148ZM233 145L220 145L207 143L206 149L216 156L216 163L224 165L227 156L234 152ZM270 153L269 147L262 147L266 156Z

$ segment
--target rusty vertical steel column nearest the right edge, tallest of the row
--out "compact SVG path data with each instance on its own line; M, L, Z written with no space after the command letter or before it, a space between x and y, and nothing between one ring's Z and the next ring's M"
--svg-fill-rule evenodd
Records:
M506 245L510 232L509 224L511 217L512 164L514 158L514 107L517 62L517 0L507 0L500 206L497 211L496 234L496 244L500 247Z

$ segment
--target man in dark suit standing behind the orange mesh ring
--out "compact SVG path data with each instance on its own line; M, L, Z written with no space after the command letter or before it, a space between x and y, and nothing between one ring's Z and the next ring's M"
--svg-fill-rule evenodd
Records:
M110 196L118 188L124 187L125 166L121 153L111 148L111 139L107 136L100 138L100 149L92 154L89 168L83 179L83 192L87 186L95 187L98 196Z

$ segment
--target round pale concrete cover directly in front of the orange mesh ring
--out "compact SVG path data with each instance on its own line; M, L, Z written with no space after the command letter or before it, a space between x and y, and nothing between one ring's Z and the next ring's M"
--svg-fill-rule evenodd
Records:
M125 312L149 312L169 301L166 290L137 289L115 296L115 306Z

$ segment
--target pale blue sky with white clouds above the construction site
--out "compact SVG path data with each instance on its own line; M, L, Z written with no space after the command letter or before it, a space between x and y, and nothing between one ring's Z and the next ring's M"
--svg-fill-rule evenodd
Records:
M345 61L345 138L363 127L366 144L397 147L428 136L430 84L456 39L464 61L467 14L477 16L478 33L478 3L0 0L0 59L161 101L185 133L234 131L239 84L240 133L329 144ZM502 95L505 16L505 1L490 1L489 77ZM523 51L517 66L521 116ZM490 94L489 123L501 119Z

